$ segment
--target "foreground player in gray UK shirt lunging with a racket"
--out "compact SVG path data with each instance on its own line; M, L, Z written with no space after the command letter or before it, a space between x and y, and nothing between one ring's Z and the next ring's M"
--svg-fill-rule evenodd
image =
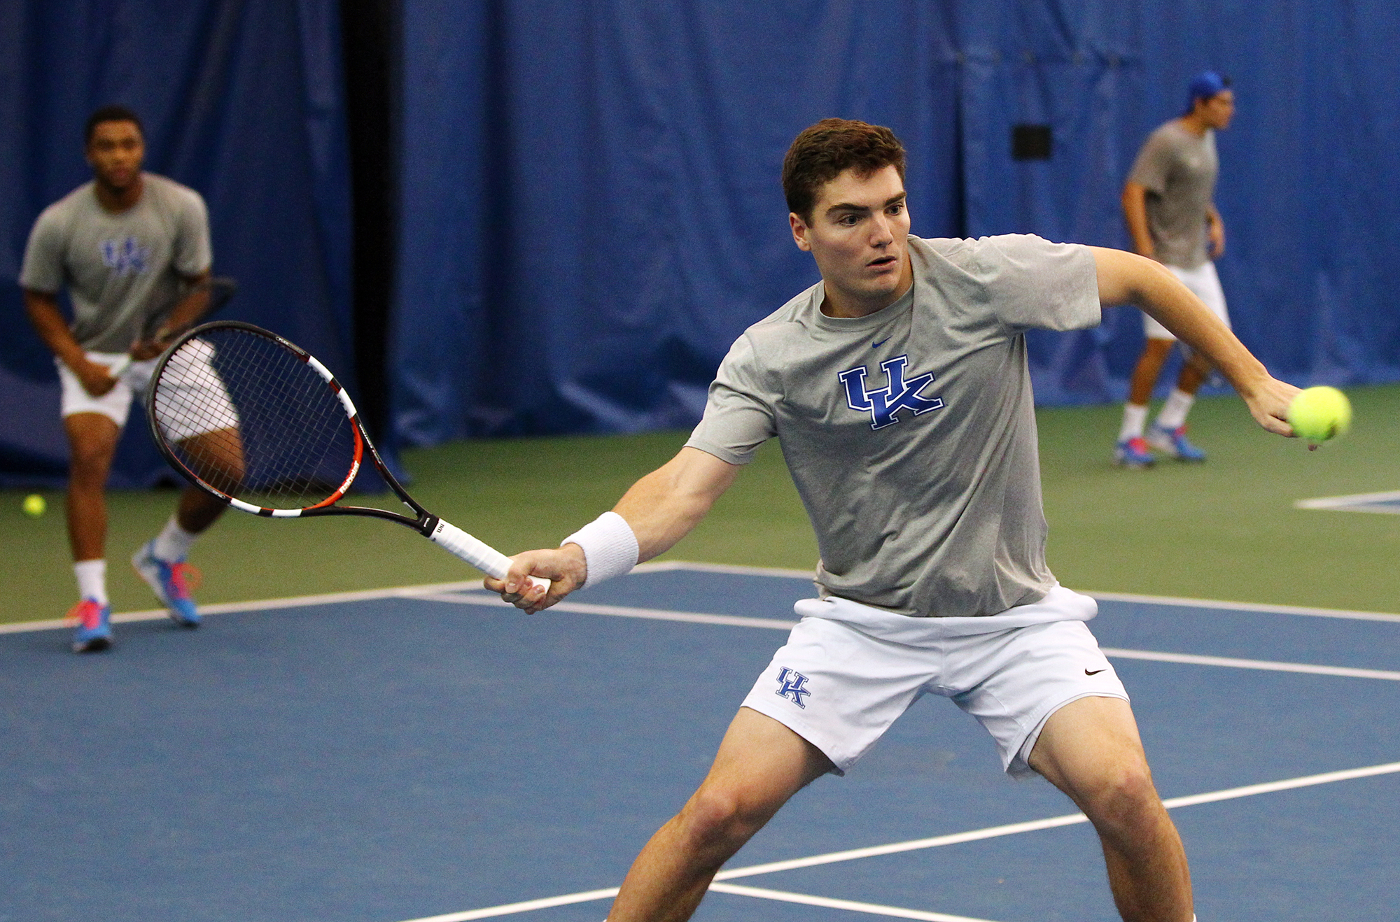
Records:
M1189 922L1180 838L1127 693L1044 561L1025 332L1134 304L1207 355L1266 430L1275 381L1159 263L1036 236L910 236L904 150L826 119L783 168L822 281L749 327L680 453L554 550L486 586L526 611L680 540L755 449L780 439L820 548L818 597L759 676L710 774L637 858L610 922L686 919L798 789L844 774L924 694L973 715L1012 774L1040 774L1098 830L1124 919ZM552 582L547 595L525 576Z

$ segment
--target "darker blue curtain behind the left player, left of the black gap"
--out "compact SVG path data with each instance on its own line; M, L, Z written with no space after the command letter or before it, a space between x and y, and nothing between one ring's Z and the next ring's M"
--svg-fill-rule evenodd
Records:
M52 355L17 287L29 227L91 178L83 122L120 102L147 161L209 204L227 316L350 376L349 183L335 0L0 0L0 483L66 476ZM165 473L133 413L113 485Z

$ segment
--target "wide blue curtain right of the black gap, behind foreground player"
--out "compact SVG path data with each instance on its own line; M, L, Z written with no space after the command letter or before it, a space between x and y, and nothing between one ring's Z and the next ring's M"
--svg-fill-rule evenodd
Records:
M1239 99L1240 337L1299 383L1400 379L1390 0L407 0L403 35L407 444L693 423L732 339L816 278L778 169L822 116L900 134L917 234L1123 246L1133 157L1205 67ZM1011 159L1016 123L1053 127L1051 159ZM1033 334L1039 400L1121 399L1141 343L1128 308Z

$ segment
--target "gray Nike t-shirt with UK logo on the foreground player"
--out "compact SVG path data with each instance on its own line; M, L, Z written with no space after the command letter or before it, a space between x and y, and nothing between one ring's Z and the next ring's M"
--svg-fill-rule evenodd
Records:
M1100 320L1085 246L909 238L913 290L869 316L820 283L750 326L687 442L732 464L777 437L816 530L818 586L917 617L1039 602L1040 460L1025 330Z

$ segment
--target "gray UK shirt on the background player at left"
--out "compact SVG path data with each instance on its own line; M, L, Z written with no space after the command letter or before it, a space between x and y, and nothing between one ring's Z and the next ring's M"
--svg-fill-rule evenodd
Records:
M141 199L126 211L104 208L88 182L45 208L29 232L20 284L45 294L67 285L73 336L85 350L129 350L147 318L175 305L181 276L211 262L199 193L155 173L141 179Z

